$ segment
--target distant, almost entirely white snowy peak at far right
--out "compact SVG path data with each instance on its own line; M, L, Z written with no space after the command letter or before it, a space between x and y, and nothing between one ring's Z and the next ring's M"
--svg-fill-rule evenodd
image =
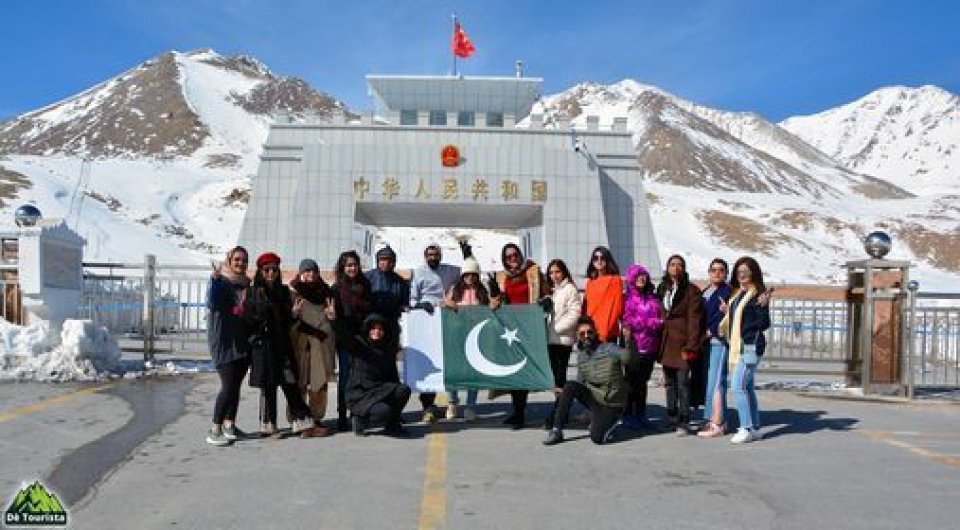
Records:
M960 97L888 87L781 127L846 167L914 193L960 191Z

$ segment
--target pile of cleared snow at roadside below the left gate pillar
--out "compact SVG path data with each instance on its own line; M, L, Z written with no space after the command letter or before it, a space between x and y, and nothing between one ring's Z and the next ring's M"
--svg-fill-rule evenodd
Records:
M105 327L68 319L56 345L48 330L0 320L0 380L90 381L119 371L120 347Z

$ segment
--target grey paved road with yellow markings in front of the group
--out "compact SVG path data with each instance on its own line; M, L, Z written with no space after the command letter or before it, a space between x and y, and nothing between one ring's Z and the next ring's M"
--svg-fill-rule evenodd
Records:
M408 439L203 443L215 376L0 385L5 502L39 478L73 528L955 528L960 406L762 392L761 442L594 446L483 420ZM663 391L651 391L661 416ZM536 399L539 397L539 400ZM545 413L546 395L531 415ZM410 418L416 417L412 400ZM245 388L241 426L255 427Z

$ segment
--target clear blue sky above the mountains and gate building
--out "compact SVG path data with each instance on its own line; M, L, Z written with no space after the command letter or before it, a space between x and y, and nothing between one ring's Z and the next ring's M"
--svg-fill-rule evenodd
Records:
M354 110L367 73L446 74L450 15L466 75L522 59L551 94L633 78L780 120L888 85L960 93L960 2L883 0L89 0L5 2L0 118L169 50L245 53Z

